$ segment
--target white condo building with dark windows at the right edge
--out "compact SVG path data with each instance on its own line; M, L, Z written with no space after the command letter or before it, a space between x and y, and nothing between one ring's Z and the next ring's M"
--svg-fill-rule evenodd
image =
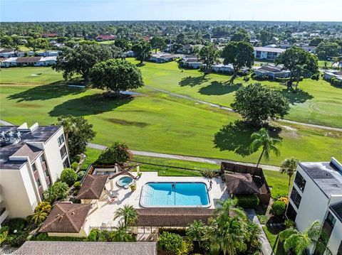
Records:
M342 164L333 157L330 162L300 162L286 215L299 231L315 220L321 222L328 248L342 255ZM317 254L314 247L309 254Z

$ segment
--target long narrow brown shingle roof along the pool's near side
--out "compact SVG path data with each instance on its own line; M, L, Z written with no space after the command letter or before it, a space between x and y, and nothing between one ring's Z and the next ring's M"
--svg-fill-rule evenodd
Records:
M214 209L207 208L145 208L137 209L140 227L187 227L194 220L207 224Z

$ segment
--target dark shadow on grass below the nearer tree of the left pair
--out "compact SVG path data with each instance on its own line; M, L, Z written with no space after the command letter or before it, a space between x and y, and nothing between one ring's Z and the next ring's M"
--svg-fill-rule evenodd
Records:
M101 114L112 111L124 104L128 104L134 97L108 98L102 94L91 94L84 97L71 99L58 104L48 114L50 116L61 116L71 114L73 116L86 116Z

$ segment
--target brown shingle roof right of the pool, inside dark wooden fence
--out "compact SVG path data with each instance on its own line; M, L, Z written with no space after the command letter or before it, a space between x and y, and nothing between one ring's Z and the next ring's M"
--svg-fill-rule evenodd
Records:
M249 173L225 173L224 179L230 195L261 194L260 178Z

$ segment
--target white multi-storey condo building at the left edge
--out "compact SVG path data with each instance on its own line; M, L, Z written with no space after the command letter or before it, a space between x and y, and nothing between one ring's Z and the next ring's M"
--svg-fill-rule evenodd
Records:
M63 126L0 126L0 225L32 215L43 191L70 166Z

